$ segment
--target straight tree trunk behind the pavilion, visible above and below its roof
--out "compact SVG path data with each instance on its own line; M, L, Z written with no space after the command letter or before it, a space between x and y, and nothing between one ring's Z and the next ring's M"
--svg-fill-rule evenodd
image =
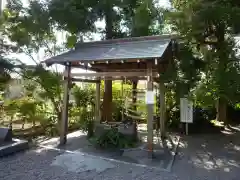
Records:
M113 38L113 7L107 3L105 7L106 39ZM103 111L101 121L112 121L112 80L104 81Z

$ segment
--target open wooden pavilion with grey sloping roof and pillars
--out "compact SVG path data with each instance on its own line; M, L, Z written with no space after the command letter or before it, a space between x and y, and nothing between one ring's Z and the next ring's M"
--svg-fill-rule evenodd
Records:
M119 79L147 80L147 96L152 99L153 82L160 90L160 132L165 134L165 92L160 73L171 65L174 56L173 36L146 36L78 43L75 49L44 62L49 66L62 64L64 72L64 99L60 144L66 143L68 127L69 84L71 81L96 83L95 120L100 122L100 81ZM96 73L71 73L71 68L85 68ZM80 77L80 78L79 78ZM153 151L154 105L147 104L148 149ZM110 108L111 109L111 108Z

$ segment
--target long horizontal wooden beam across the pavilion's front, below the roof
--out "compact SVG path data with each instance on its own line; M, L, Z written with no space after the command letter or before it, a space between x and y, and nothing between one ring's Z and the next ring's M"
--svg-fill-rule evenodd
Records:
M152 71L151 71L152 72ZM63 74L67 76L66 73ZM71 73L71 77L139 77L147 76L147 72L97 72L97 73ZM157 72L152 72L152 77L157 77Z

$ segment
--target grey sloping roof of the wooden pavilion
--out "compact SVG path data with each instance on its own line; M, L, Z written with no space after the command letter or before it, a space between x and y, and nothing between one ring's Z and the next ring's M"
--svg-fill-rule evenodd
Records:
M170 36L146 36L78 43L74 50L49 58L47 64L76 61L152 59L162 57Z

